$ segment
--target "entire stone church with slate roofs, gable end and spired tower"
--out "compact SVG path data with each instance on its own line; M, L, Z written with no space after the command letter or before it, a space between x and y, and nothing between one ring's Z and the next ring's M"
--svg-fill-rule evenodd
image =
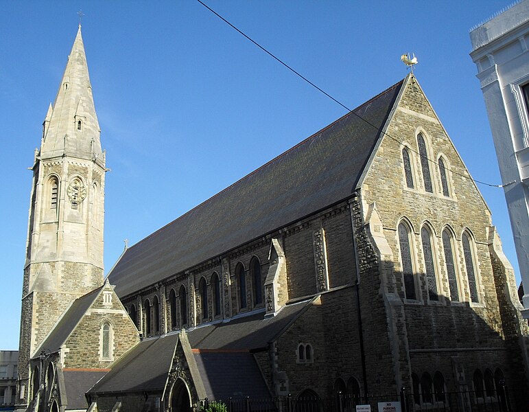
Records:
M99 133L79 28L34 157L19 410L285 397L341 411L338 393L401 387L419 410L452 391L479 403L502 380L526 393L513 268L412 74L126 249L106 279Z

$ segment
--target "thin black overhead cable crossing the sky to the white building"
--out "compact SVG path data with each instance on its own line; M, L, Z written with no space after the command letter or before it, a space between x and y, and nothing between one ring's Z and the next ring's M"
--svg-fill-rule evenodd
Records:
M321 93L323 93L324 95L327 96L327 98L333 100L333 102L336 102L338 104L340 104L340 106L342 106L343 108L346 109L346 111L348 111L349 113L355 115L356 117L358 117L359 119L361 119L363 122L366 122L366 124L368 124L369 126L375 128L376 130L379 130L379 128L377 126L375 126L373 123L369 122L368 119L365 119L364 117L362 117L361 115L359 115L358 113L355 113L353 111L353 109L347 107L345 104L343 104L342 102L340 102L338 99L335 99L333 98L333 96L331 96L329 93L327 93L326 91L322 90L320 87L316 86L316 84L314 84L313 82L311 82L309 79L305 78L305 76L301 75L301 73L299 73L298 71L294 70L292 67L290 67L289 65L287 65L287 63L283 62L283 60L281 60L279 57L275 56L274 54L272 54L272 52L269 52L268 49L266 49L265 47L261 46L259 43L257 43L257 41L253 40L250 36L248 36L246 33L242 32L242 30L239 30L237 27L235 27L235 25L233 25L232 23L230 23L229 21L227 21L226 19L224 19L224 17L222 17L220 14L218 14L218 12L215 12L215 10L213 10L212 8L209 7L209 5L205 4L203 1L201 0L197 0L198 3L202 4L205 8L207 8L207 10L209 10L210 12L212 12L213 14L215 14L215 16L217 16L219 19L221 19L222 21L224 21L224 23L226 23L227 25L229 25L230 27L233 28L233 30L237 31L239 34L242 34L242 36L246 37L250 42L252 42L254 45L256 45L257 47L259 47L259 49L263 50L263 52L265 52L266 54L268 54L268 56L271 56L272 58L274 58L274 60L277 60L279 63L281 63L281 65L285 66L287 69L289 69L290 71L292 71L292 73L294 73L296 76L298 76L299 78L305 80L305 82L307 82L308 84L310 84L312 87L314 87L316 90L320 91ZM391 135L389 135L388 133L384 132L384 130L381 130L381 133L383 133L385 136L387 136L388 138L396 141L397 143L399 144L403 144L402 141L400 141L399 139L395 138L395 137L392 137ZM426 155L421 155L421 153L419 153L417 150L414 150L412 148L410 148L408 146L408 149L411 150L412 152L416 153L416 155L419 155L419 157L423 157L425 158L427 161L429 161L430 163L433 163L434 165L437 165L439 167L439 163L437 163L436 161L430 159L429 157L427 157ZM504 187L506 185L510 185L512 183L515 183L515 181L513 182L509 182L509 183L506 183L504 185L493 185L491 183L486 183L486 182L483 182L483 181L478 181L476 179L473 179L470 175L467 176L465 174L462 174L462 173L459 173L459 172L456 172L454 170L450 170L450 172L452 174L457 174L458 176L462 176L463 178L465 179L469 179L470 181L473 181L474 183L480 183L481 185L486 185L486 186L490 186L490 187Z

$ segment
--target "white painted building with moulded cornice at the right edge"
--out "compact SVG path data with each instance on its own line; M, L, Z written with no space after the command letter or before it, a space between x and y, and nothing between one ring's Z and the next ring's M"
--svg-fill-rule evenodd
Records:
M529 319L529 0L471 30L491 123Z

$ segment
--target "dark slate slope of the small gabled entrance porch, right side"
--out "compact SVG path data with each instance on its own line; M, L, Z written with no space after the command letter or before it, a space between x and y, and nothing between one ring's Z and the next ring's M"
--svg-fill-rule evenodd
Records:
M270 398L255 358L249 352L193 353L208 398Z

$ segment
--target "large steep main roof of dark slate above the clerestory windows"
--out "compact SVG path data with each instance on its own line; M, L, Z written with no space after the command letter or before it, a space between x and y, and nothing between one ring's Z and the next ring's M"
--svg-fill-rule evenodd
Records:
M128 248L109 274L119 297L351 196L403 80Z

